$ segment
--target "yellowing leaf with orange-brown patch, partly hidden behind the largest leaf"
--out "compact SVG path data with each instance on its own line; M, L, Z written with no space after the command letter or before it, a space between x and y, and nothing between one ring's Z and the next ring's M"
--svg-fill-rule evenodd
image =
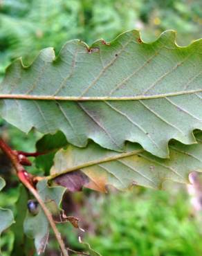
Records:
M134 143L127 143L125 153L103 149L95 143L85 149L68 145L55 154L49 179L62 185L66 175L81 170L89 177L85 186L101 191L106 185L125 190L133 185L162 188L167 180L187 183L190 172L202 170L202 133L196 134L196 138L196 145L169 143L168 159L145 152Z

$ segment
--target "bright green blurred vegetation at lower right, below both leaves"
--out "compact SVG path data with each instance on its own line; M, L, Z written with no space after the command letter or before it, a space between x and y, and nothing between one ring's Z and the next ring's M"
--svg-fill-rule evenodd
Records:
M91 196L90 203L93 217L89 221L96 228L93 235L86 232L86 240L102 255L202 255L201 222L192 216L185 191L136 188L100 200Z

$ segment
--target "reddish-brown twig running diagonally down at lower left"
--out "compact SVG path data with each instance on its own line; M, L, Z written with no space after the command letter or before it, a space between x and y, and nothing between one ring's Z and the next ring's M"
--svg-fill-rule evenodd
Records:
M32 174L29 174L24 169L23 165L21 165L21 163L19 162L20 161L19 156L18 154L16 154L16 151L12 150L1 138L0 138L0 148L6 154L6 156L8 156L12 165L15 167L19 181L21 181L21 183L23 183L24 186L28 188L28 190L33 194L33 196L35 196L35 199L37 199L37 201L39 202L39 205L41 205L42 210L44 211L44 214L46 215L50 223L50 226L53 229L55 238L57 239L59 247L62 251L62 255L68 256L68 252L65 248L64 241L62 240L61 235L57 230L52 214L50 213L48 208L46 208L44 201L41 199L39 193L35 189L35 177Z

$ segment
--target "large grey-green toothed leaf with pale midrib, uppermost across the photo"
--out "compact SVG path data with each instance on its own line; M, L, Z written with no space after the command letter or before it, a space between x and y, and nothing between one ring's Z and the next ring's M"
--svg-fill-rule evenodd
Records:
M9 66L0 86L0 115L28 132L64 132L68 142L125 150L140 143L167 157L171 138L196 143L202 129L202 40L175 44L168 30L151 44L138 31L90 48L67 42L58 57L46 48L29 67Z

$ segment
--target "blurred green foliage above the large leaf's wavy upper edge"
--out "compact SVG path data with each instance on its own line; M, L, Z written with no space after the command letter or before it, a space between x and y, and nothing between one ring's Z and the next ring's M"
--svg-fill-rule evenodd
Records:
M138 28L145 39L178 31L178 42L202 37L200 0L3 0L0 2L0 72L17 57L30 64L39 50L58 53L69 39L91 44Z

